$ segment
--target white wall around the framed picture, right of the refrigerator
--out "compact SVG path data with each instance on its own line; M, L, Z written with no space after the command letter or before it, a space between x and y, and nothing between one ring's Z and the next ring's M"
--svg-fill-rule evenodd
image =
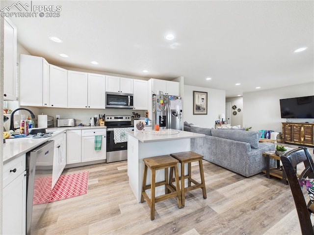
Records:
M207 115L193 115L193 91L207 92ZM226 92L198 86L184 85L183 121L196 126L214 128L220 113L225 113Z

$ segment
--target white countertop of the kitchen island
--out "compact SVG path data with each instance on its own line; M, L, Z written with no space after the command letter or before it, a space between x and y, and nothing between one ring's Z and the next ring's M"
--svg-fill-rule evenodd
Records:
M164 140L175 140L175 139L187 139L205 136L205 134L194 133L189 131L179 131L174 129L164 129L164 130L150 130L150 131L129 131L129 135L138 139L139 141L146 142L156 142Z

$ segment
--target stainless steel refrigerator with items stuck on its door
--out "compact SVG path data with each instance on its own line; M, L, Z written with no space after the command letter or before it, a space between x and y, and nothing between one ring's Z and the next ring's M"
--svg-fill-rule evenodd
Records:
M153 95L153 129L182 130L182 98L171 95Z

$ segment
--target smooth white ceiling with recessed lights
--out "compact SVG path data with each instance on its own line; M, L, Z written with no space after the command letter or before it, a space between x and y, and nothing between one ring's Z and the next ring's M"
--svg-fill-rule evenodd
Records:
M187 85L226 90L227 97L314 81L313 0L22 2L61 6L60 17L11 18L26 50L55 65L183 76ZM172 41L164 38L169 32ZM300 47L308 50L293 52Z

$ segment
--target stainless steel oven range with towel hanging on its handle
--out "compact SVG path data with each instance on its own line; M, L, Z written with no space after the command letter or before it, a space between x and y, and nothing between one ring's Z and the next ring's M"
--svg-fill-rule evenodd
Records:
M106 116L106 162L123 161L128 159L128 134L134 130L131 116Z

